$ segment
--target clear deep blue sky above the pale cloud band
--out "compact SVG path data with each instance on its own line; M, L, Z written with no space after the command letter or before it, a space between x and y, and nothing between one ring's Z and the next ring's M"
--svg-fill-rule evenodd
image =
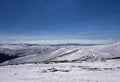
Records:
M0 39L120 40L120 0L0 0Z

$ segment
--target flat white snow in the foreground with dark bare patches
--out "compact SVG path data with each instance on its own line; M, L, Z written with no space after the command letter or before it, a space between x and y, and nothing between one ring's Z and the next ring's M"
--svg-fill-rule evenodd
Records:
M0 66L0 82L119 82L120 60Z

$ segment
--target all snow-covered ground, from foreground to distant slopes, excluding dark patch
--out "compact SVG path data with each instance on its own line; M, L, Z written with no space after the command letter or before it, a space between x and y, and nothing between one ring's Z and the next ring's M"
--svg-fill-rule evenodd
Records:
M0 82L120 81L120 43L96 46L0 45L2 52L19 57L1 63L4 66L0 66ZM118 59L110 59L115 57ZM104 61L100 60L102 58Z

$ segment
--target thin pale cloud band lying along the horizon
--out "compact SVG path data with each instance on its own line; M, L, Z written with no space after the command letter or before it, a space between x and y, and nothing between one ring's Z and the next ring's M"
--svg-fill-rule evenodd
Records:
M68 40L1 40L0 44L109 44L113 43L112 39L105 40L85 40L85 39L68 39Z

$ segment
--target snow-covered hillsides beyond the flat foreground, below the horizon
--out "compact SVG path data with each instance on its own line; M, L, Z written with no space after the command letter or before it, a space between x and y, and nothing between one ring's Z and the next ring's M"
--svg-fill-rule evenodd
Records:
M1 45L0 52L18 55L18 58L3 62L2 64L87 61L120 57L120 43L96 46Z

